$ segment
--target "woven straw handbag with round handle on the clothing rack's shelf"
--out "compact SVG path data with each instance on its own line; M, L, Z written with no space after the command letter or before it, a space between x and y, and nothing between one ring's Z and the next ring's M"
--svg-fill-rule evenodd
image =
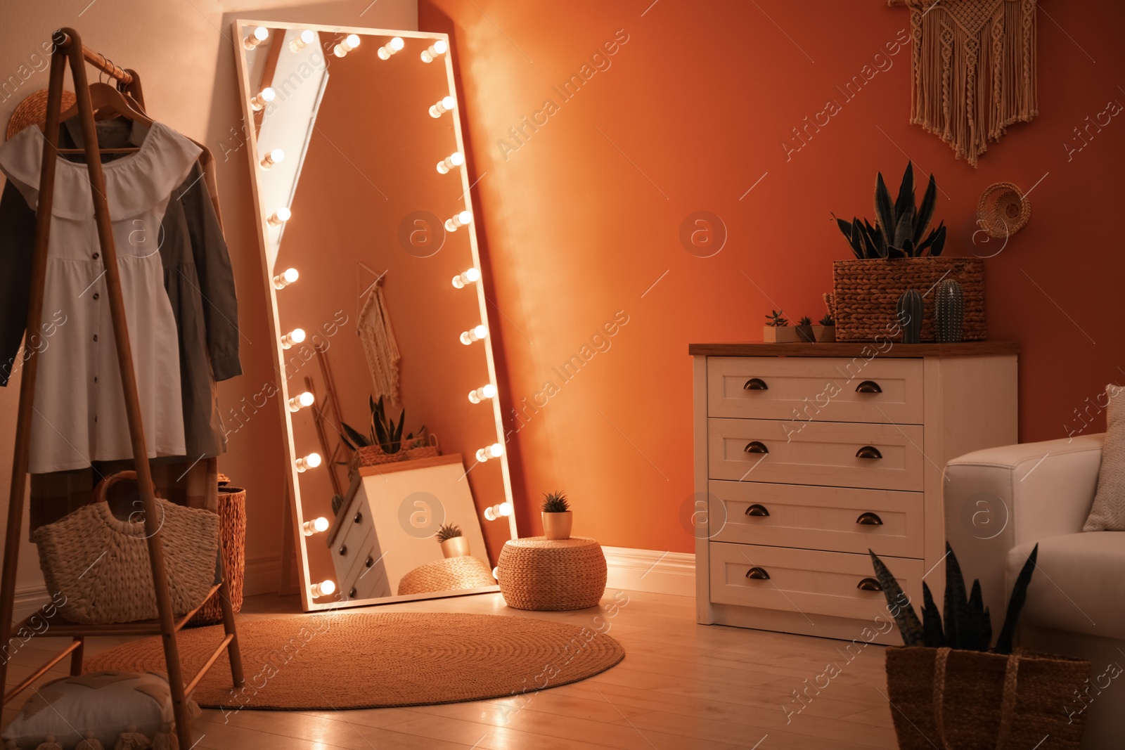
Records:
M65 598L58 612L71 622L102 625L158 616L144 522L120 521L106 503L106 493L123 479L135 480L136 472L102 479L93 501L32 535L47 590ZM219 518L159 497L156 506L172 609L191 612L215 580Z

